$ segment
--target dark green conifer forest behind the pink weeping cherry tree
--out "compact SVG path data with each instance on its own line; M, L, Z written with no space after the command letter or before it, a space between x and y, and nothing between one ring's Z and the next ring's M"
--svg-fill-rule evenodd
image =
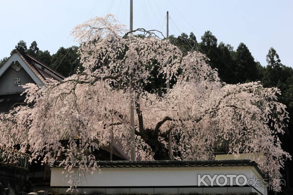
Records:
M138 34L136 36L143 36ZM230 44L224 44L210 31L206 31L201 37L201 42L198 43L193 32L188 36L182 33L177 38L170 35L169 39L173 44L176 44L180 49L187 53L188 51L200 51L207 55L210 59L209 65L212 68L217 68L219 77L228 84L236 84L239 82L249 82L260 80L265 87L278 87L282 95L280 101L287 105L290 115L293 113L293 69L281 63L279 55L274 48L270 48L266 56L267 66L262 66L259 62L255 62L251 52L244 43L240 43L236 50ZM11 54L16 48L27 52L42 63L50 66L57 72L68 77L76 73L77 68L81 67L78 59L77 46L70 48L60 47L56 54L50 55L48 50L42 51L38 48L36 41L33 41L27 49L26 43L20 40L11 51ZM8 60L7 57L0 60L0 67ZM156 62L153 64L152 70L155 74ZM164 75L158 75L153 78L153 81L146 85L149 91L163 91L166 86L166 78ZM171 81L171 87L172 87ZM293 115L292 115L293 116ZM292 118L292 117L291 117ZM293 124L293 121L290 120Z

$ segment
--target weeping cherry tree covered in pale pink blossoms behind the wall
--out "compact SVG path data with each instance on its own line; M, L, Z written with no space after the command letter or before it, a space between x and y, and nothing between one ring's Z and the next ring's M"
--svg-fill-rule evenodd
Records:
M42 163L50 164L63 155L61 164L70 171L78 165L79 170L88 172L89 167L98 168L91 152L109 143L112 127L129 154L129 105L134 99L140 159L167 160L171 132L174 159L207 160L216 151L260 152L264 156L255 159L260 169L279 177L276 173L291 156L281 148L278 136L284 133L288 113L278 102L277 88L264 88L260 82L226 84L213 69L216 61L210 59L211 67L201 52L183 52L172 40L161 40L152 31L133 36L113 15L77 25L72 35L80 43L76 49L82 67L46 87L27 84L26 103L34 104L0 115L0 127L5 121L11 129L0 128L2 144L13 147L17 140L22 143L21 151L30 151L32 161L43 156ZM211 32L205 33L202 41L199 45L207 55L212 55L209 48L218 51ZM219 48L231 50L222 43ZM63 48L59 53L65 51L69 52ZM239 59L236 71L245 71L243 67L257 71L245 44L239 45L235 56ZM168 93L146 89L159 75L173 80ZM249 81L257 79L257 75L244 75ZM8 139L11 133L16 140ZM60 141L65 133L69 134L66 143ZM70 185L77 180L73 178Z

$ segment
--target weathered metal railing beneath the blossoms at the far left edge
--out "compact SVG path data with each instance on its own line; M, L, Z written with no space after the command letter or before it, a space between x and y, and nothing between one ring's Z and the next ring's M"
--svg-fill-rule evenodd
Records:
M30 156L26 153L0 146L0 163L22 169L28 169L29 158Z

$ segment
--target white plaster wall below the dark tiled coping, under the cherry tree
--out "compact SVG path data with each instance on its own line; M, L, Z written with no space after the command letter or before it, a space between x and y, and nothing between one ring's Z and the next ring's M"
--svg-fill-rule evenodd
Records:
M69 186L68 179L64 179L62 175L64 168L51 168L51 186L62 187ZM93 175L88 175L79 186L83 187L196 187L197 175L209 174L213 177L214 174L242 174L247 178L263 179L253 166L227 166L227 167L165 167L165 168L102 168L101 173L94 172ZM210 182L205 179L208 185ZM221 180L220 180L221 182ZM228 185L230 181L228 180ZM235 185L235 180L233 185ZM214 182L214 186L217 184ZM204 187L204 186L202 186ZM263 194L265 188L257 188Z

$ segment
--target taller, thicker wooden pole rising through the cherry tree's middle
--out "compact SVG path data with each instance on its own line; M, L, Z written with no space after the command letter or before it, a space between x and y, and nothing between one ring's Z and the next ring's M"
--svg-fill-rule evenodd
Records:
M133 30L133 0L130 0L130 31ZM130 33L130 37L132 33ZM134 89L132 87L133 67L130 72L130 160L135 161L135 126L134 126Z

